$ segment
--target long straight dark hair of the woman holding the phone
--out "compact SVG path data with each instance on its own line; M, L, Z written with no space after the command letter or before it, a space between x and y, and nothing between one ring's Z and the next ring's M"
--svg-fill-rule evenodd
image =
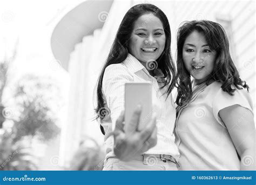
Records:
M157 59L158 68L163 71L164 76L166 78L165 84L163 87L170 85L167 88L167 95L170 95L171 91L173 90L175 84L177 83L177 72L171 57L171 29L169 25L169 21L164 14L157 6L152 4L137 4L133 6L129 11L126 12L119 29L117 31L116 38L112 44L111 50L109 52L109 56L100 72L98 82L97 82L97 107L95 112L97 114L96 119L102 120L103 117L99 116L99 111L104 106L104 97L102 92L102 80L105 72L105 68L111 64L119 64L122 63L129 53L129 40L131 37L131 33L133 31L133 26L136 20L147 13L153 13L154 16L158 17L163 24L164 32L165 32L165 48L161 56ZM103 127L101 126L100 129L103 131Z

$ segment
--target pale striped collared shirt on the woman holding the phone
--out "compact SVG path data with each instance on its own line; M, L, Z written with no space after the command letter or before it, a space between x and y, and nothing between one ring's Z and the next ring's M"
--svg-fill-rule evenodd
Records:
M100 123L105 131L106 159L114 157L113 152L113 130L116 120L124 110L124 85L131 82L148 82L153 86L155 104L153 109L157 113L157 145L147 150L145 154L166 154L172 155L177 160L179 158L178 147L173 134L176 110L172 95L166 99L165 93L167 87L159 90L161 83L152 77L146 68L133 57L130 53L120 64L111 64L106 67L103 77L103 94L106 100L106 108L110 109L107 115ZM153 101L154 102L154 101Z

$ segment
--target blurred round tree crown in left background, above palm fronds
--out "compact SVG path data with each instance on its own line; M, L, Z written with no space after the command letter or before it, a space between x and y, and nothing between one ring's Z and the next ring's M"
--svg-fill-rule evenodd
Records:
M24 76L16 86L15 100L18 119L15 120L15 140L31 135L48 141L60 131L56 122L61 106L60 90L50 77Z

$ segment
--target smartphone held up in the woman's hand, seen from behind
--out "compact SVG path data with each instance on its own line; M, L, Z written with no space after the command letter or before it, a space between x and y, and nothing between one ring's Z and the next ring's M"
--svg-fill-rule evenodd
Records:
M149 83L125 83L125 132L130 123L133 112L138 105L142 106L138 130L142 130L149 123L152 116L152 84Z

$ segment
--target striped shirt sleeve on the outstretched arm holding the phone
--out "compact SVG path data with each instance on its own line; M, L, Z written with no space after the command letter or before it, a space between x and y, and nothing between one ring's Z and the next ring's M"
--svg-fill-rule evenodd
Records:
M122 64L112 64L106 67L103 76L103 93L110 109L112 131L116 120L124 110L124 85L133 81L133 76Z

